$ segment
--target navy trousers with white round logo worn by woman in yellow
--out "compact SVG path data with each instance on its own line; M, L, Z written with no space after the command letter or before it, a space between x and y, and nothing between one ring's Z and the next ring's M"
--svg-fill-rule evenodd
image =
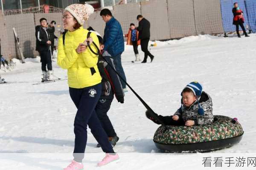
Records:
M95 112L101 90L101 83L87 88L69 88L70 97L78 109L74 122L75 148L73 153L74 160L77 162L81 162L84 159L87 143L87 125L97 142L101 145L102 150L105 153L114 153L108 141L108 136L103 130Z

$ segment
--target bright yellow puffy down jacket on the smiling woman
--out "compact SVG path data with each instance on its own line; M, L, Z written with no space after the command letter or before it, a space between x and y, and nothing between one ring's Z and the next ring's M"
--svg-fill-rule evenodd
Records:
M65 35L65 45L63 45L63 36L58 40L58 65L67 69L68 85L71 88L86 88L101 82L101 76L97 67L98 56L93 54L89 48L86 51L77 54L76 48L79 43L87 39L88 30L82 26L76 31L67 31ZM90 37L99 47L99 40L95 33ZM91 45L93 51L96 51L94 45ZM94 68L96 73L92 75L90 68Z

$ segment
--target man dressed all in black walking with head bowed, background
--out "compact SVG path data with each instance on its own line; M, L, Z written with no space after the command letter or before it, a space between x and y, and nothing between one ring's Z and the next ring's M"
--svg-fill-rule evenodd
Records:
M144 52L144 59L142 63L147 62L148 56L152 62L154 56L148 51L148 42L150 39L150 23L142 15L138 15L137 20L139 21L139 27L137 27L137 30L139 31L141 50Z

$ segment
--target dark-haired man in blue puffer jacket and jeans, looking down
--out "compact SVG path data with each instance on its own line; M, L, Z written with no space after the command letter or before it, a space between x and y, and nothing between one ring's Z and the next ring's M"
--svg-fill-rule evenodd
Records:
M114 64L116 65L116 71L126 81L125 72L122 68L121 54L125 50L125 42L120 23L112 16L109 9L102 9L100 12L102 20L106 23L104 30L103 43L105 45L104 51L108 51L113 57ZM126 84L122 81L123 91L126 92Z

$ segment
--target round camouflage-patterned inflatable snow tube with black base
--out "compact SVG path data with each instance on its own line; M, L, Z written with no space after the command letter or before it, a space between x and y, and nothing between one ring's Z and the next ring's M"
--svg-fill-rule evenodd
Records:
M227 116L214 116L212 125L160 126L154 143L160 150L172 153L205 152L239 143L243 133L239 122Z

